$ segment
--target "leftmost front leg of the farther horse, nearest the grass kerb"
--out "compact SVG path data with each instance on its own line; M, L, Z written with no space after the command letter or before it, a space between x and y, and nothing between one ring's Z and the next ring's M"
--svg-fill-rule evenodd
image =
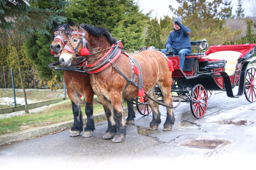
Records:
M67 89L69 99L72 103L72 111L74 115L74 125L70 130L70 137L79 136L80 132L83 130L83 120L82 112L80 109L81 99L79 98L79 93L72 93L71 90Z

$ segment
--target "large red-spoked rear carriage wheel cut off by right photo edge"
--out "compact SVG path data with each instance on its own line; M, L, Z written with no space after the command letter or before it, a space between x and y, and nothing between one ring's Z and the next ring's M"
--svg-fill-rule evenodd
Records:
M249 102L256 101L256 69L254 67L247 70L245 79L245 97Z

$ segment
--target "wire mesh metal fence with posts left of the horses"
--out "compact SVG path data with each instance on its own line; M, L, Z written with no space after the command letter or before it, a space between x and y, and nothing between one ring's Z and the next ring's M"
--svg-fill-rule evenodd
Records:
M14 88L12 86L12 75ZM39 77L38 73L34 69L22 71L22 75L28 103L62 98L66 95L66 90L64 90L65 83L63 82L63 79L60 83L57 83L55 79L50 81L45 80L44 78ZM11 68L1 66L0 109L15 106L15 101L17 106L25 104L19 71L13 70L12 74Z

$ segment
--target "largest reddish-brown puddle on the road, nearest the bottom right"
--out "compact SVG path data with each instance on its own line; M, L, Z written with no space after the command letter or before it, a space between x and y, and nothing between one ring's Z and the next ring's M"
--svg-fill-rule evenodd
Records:
M181 144L181 146L187 146L190 148L214 149L218 146L227 144L230 144L230 142L227 140L192 140Z

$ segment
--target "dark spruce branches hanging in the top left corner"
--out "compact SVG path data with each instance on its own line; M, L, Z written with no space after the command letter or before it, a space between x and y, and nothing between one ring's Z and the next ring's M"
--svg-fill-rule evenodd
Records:
M40 0L39 0L40 1ZM60 8L69 5L68 1L48 0L50 4L55 4ZM26 25L26 31L34 33L39 31L42 34L49 34L47 26L51 27L53 20L63 22L64 17L59 17L63 10L52 10L48 8L39 8L36 6L36 0L0 0L0 28L11 29L16 21Z

